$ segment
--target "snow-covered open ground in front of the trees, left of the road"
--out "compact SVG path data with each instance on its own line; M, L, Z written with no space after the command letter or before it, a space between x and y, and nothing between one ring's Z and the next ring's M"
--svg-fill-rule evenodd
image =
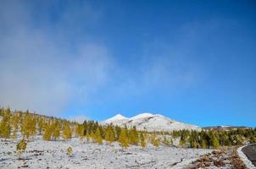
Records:
M69 146L73 149L71 155L67 154ZM66 142L31 141L21 155L22 160L15 149L15 141L1 140L0 168L183 168L189 161L212 151L151 145L146 149L131 146L122 150L117 143L81 143L76 138Z

